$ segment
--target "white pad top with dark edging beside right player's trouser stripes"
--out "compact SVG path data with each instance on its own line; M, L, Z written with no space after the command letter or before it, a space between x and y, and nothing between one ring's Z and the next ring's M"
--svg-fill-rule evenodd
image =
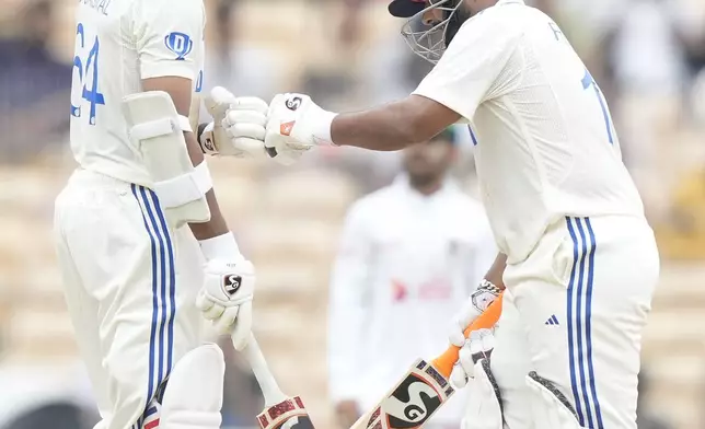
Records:
M535 428L581 429L575 409L553 384L535 372L527 375Z

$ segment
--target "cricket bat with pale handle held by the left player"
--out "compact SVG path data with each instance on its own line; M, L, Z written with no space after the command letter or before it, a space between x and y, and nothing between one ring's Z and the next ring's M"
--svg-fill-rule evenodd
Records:
M259 427L262 429L314 429L301 398L289 397L279 389L253 334L242 352L250 362L265 398L265 408L257 415Z

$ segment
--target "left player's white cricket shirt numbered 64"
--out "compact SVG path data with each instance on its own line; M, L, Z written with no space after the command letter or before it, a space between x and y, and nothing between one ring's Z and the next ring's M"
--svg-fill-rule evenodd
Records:
M140 92L149 78L190 79L200 91L203 0L81 0L76 18L73 155L83 169L149 186L128 139L122 100Z

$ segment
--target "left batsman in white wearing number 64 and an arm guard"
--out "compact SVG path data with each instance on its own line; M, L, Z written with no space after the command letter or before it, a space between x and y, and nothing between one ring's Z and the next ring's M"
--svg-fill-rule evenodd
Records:
M78 4L79 167L57 198L55 231L97 428L219 428L224 361L203 345L203 316L233 331L236 348L250 335L254 269L219 211L204 152L265 153L267 106L219 89L206 100L213 124L188 117L203 84L204 25L203 0ZM259 140L238 138L238 127L224 134L224 112L239 105Z

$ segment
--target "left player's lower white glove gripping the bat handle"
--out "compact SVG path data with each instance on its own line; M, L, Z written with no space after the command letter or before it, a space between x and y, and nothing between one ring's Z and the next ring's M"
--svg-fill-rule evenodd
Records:
M251 262L211 259L206 264L206 282L196 306L212 321L220 334L232 333L233 345L242 350L252 331L252 298L255 269Z

